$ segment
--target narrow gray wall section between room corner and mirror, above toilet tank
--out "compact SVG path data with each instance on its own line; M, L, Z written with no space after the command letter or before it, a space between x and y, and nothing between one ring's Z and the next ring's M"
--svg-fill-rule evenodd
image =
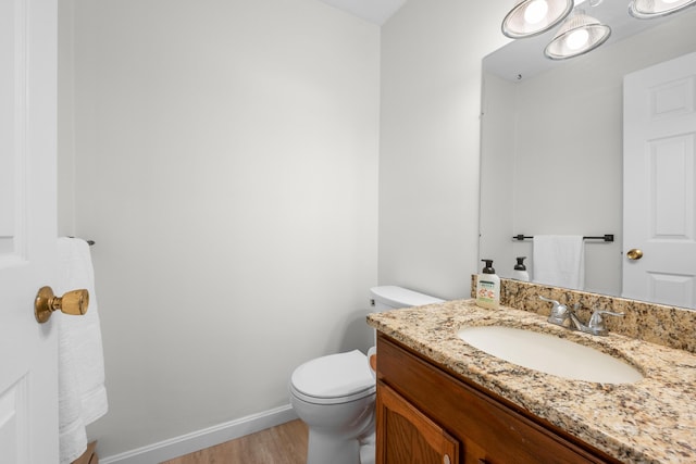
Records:
M380 283L468 297L478 268L481 60L509 2L409 0L382 27Z

